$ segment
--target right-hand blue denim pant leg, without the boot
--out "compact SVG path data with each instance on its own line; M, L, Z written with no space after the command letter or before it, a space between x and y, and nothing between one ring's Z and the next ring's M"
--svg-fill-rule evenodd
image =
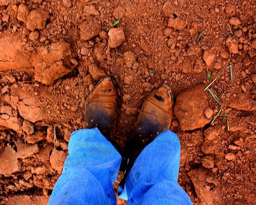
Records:
M127 204L192 204L177 183L180 162L178 136L165 131L146 146L138 156L124 189L118 195Z

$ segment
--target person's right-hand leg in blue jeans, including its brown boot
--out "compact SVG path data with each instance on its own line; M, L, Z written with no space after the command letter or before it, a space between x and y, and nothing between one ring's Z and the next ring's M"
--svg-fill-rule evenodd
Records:
M127 204L191 204L177 183L180 143L168 130L171 122L171 90L163 85L145 100L125 146L128 162L118 195Z

